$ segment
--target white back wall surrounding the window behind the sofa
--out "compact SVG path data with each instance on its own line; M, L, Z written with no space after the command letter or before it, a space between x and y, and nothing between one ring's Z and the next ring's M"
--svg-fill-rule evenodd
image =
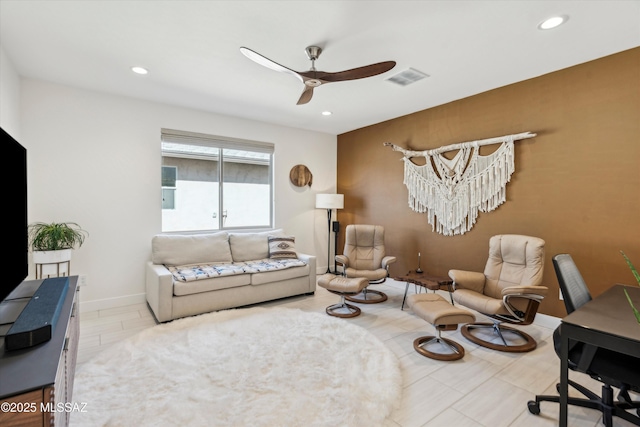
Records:
M87 276L83 311L144 301L144 266L161 230L160 129L275 144L275 226L326 269L326 211L315 194L335 192L334 135L210 114L23 79L21 141L28 152L29 222L72 221L90 235L72 274ZM3 88L4 89L4 88ZM305 164L313 188L289 182ZM31 266L33 276L33 266Z

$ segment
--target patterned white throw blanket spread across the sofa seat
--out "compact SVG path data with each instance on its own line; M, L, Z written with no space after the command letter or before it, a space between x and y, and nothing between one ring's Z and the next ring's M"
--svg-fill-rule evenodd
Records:
M265 271L284 270L291 267L304 267L304 261L297 258L272 259L265 258L247 262L226 262L214 264L190 264L168 266L175 280L180 282L192 282L200 279L210 279L212 277L231 276L244 273L262 273Z

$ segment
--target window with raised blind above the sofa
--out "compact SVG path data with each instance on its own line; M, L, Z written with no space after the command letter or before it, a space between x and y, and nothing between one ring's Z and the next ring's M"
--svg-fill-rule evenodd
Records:
M273 144L162 129L162 231L271 228Z

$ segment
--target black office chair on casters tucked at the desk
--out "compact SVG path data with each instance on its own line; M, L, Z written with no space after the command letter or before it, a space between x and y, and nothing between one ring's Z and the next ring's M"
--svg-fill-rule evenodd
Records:
M556 276L560 283L567 314L591 301L591 294L571 255L560 254L552 259ZM562 325L553 332L554 348L560 356L560 336ZM569 340L569 369L583 372L603 383L602 396L598 396L580 384L569 380L569 385L587 399L569 397L569 405L597 409L602 412L605 426L613 425L612 416L623 418L640 426L640 401L631 400L629 390L640 391L640 359L615 351L597 348L585 343ZM556 384L556 389L560 385ZM619 390L618 401L613 399L613 387ZM560 396L536 396L527 403L529 412L540 414L540 402L560 402ZM628 412L636 409L638 416Z

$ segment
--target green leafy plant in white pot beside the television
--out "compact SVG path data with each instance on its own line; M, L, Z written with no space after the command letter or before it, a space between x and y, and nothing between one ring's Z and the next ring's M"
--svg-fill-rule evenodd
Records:
M70 261L71 250L82 246L88 234L75 222L29 224L29 247L34 264Z

